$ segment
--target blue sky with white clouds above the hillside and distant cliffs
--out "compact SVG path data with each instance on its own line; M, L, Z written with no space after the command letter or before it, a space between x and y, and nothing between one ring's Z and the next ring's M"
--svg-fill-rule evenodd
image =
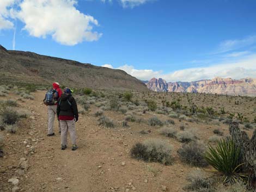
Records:
M1 0L0 44L143 80L256 78L255 10L254 0Z

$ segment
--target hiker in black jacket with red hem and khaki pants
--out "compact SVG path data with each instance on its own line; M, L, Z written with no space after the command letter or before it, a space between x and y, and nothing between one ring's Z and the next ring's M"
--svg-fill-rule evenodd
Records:
M64 94L58 99L57 115L60 122L61 144L62 150L66 149L68 131L72 142L72 151L75 151L78 147L76 145L76 129L75 122L78 121L77 104L74 97L71 95L70 88L64 89Z

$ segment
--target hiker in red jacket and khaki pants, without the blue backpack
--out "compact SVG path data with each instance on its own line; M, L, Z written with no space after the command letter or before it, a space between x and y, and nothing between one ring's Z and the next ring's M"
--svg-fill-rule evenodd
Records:
M59 88L59 83L53 83L52 84L52 88L54 90L56 90L57 92L57 97L55 98L55 100L57 101L58 98L62 95L62 90ZM57 102L53 105L48 105L48 134L47 136L53 136L54 132L54 119L55 119L55 115L56 115L56 111L57 111ZM60 123L58 121L58 126L59 126L59 133L61 132L60 129Z

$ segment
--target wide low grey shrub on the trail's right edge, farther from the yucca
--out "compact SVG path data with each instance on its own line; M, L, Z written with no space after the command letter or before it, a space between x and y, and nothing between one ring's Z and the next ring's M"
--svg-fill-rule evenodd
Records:
M147 162L160 162L165 165L172 164L173 146L161 139L145 140L135 144L131 149L131 157Z

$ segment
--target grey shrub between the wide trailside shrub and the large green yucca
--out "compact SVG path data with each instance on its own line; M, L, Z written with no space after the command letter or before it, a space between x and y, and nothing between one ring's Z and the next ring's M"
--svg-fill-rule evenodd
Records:
M208 163L204 159L205 146L199 141L192 141L191 143L182 145L178 150L179 157L182 162L194 166L206 166Z

